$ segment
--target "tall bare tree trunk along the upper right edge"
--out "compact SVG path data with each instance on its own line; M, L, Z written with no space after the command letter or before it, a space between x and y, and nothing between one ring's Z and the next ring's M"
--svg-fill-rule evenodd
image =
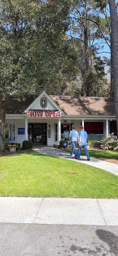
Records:
M108 0L108 2L111 18L111 59L113 66L114 102L118 132L118 22L115 0Z

